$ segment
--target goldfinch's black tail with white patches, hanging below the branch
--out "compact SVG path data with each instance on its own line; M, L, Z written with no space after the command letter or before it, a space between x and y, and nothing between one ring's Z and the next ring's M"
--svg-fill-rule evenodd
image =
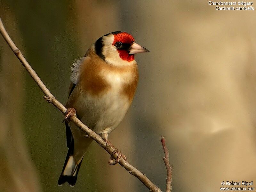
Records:
M62 172L60 174L60 178L58 180L58 185L62 185L63 183L68 182L68 184L71 187L74 187L74 185L76 184L77 174L82 164L83 158L78 164L76 164L73 158L73 152L74 152L74 140L72 138L69 149L68 149L66 161L64 163Z

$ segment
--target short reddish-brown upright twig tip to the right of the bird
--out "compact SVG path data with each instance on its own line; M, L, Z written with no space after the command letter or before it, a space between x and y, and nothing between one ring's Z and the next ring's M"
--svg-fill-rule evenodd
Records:
M161 137L161 142L164 148L164 164L167 171L167 177L166 177L166 192L172 192L172 165L170 165L169 162L169 150L166 147L165 144L166 138L164 136Z

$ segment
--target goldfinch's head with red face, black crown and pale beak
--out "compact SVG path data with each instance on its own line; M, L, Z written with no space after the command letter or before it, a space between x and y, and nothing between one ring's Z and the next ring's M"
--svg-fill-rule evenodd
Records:
M135 53L149 51L135 43L130 34L116 31L100 37L95 42L95 52L107 63L123 66L135 62Z

